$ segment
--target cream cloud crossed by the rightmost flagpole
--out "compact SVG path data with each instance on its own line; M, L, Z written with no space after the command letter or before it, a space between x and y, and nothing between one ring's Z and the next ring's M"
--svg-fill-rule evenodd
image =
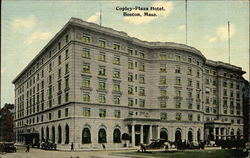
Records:
M232 24L230 26L230 37L234 36L235 34L235 26ZM203 39L207 40L208 42L215 42L215 41L225 41L228 39L228 27L226 26L219 26L214 35L205 35Z

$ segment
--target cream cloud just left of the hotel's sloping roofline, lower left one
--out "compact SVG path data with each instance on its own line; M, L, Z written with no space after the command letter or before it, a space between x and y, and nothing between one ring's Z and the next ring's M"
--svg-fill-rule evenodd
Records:
M41 30L38 30L36 32L33 32L25 41L24 44L30 45L36 40L46 40L51 37L50 32L42 32Z

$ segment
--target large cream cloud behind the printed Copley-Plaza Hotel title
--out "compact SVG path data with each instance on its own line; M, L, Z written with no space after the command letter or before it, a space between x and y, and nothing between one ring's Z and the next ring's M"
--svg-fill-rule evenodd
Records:
M142 11L142 10L132 10L128 13L139 13L141 16L127 16L124 17L124 21L127 21L131 24L145 24L149 23L152 20L159 18L159 17L166 17L168 16L172 10L173 10L173 2L165 2L165 1L155 1L152 4L152 7L163 7L163 11L156 11L156 10L148 10L148 11ZM149 7L150 8L150 7ZM156 14L157 16L144 16L144 13L148 12L149 14Z

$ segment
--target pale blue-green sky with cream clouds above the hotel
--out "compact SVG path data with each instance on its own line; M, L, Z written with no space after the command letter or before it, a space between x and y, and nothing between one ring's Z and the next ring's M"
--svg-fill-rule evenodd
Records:
M155 17L125 17L123 7L163 7ZM1 5L1 105L14 103L13 79L71 17L99 24L145 41L186 42L185 0L175 1L17 1ZM187 3L187 44L207 58L229 62L227 23L230 21L231 64L242 67L249 80L248 0ZM144 11L127 11L141 13Z

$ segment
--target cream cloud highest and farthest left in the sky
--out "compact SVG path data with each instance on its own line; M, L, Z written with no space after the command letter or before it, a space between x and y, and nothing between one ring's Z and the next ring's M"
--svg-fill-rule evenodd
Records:
M16 18L12 21L11 26L15 29L31 28L36 24L36 22L37 19L35 16L30 16L27 18Z

